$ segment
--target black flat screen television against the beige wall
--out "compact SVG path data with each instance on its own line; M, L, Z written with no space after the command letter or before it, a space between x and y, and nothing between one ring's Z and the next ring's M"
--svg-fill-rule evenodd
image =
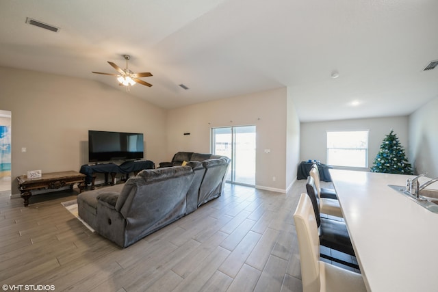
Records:
M88 161L120 161L143 158L143 134L88 131Z

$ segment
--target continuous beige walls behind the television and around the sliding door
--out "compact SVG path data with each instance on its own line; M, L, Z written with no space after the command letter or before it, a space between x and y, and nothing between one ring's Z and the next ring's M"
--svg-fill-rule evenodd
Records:
M166 111L99 82L0 67L0 90L0 109L12 112L12 194L27 170L79 170L89 129L144 133L145 158L158 164L210 152L211 127L255 124L256 185L285 191L296 178L299 121L287 88Z

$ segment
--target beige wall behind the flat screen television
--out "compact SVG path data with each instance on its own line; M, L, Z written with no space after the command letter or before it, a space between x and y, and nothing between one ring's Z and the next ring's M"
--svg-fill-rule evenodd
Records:
M12 194L27 170L79 171L89 129L144 133L145 158L166 159L166 111L96 81L0 67L0 109L12 112Z

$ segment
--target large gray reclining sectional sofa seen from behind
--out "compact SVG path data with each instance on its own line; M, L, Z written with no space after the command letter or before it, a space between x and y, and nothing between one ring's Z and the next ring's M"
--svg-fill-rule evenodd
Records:
M218 157L142 170L123 185L79 194L79 216L126 248L221 196L229 163L228 157Z

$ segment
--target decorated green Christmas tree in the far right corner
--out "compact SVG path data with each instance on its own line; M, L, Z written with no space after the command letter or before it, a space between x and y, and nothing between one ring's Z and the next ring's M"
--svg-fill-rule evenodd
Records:
M386 135L373 162L371 172L384 172L389 174L413 174L411 164L404 153L404 148L400 145L398 137L391 130Z

